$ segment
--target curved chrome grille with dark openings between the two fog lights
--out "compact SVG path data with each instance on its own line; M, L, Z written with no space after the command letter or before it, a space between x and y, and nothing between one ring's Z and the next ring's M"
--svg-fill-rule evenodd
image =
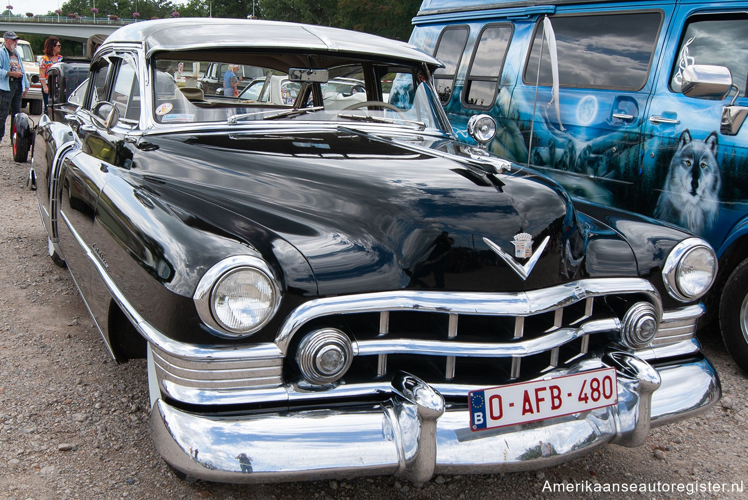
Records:
M616 300L610 300L615 297ZM350 336L355 359L346 385L411 368L428 383L506 383L537 377L610 343L626 304L652 303L639 279L580 280L518 293L393 291L311 300L276 339L286 359L320 327ZM599 335L602 334L602 335ZM292 379L286 375L286 383Z

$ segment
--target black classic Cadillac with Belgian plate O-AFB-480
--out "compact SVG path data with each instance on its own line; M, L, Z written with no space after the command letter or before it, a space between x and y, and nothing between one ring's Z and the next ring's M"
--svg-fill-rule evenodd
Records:
M215 61L298 98L171 74ZM490 117L456 141L438 67L334 28L138 22L98 49L79 107L33 129L49 255L114 359L147 358L150 430L181 477L536 469L720 398L695 338L711 247L488 155ZM326 108L334 78L366 99Z

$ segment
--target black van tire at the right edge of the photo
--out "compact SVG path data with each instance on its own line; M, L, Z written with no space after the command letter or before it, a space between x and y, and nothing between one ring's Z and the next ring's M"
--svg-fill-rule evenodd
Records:
M748 374L748 259L725 283L720 300L720 330L735 363Z

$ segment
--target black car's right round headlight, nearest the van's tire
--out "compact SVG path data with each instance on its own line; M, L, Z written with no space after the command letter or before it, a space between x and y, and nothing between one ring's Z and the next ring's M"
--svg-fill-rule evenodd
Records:
M717 256L701 238L688 238L672 249L663 266L668 293L681 302L705 294L717 277Z

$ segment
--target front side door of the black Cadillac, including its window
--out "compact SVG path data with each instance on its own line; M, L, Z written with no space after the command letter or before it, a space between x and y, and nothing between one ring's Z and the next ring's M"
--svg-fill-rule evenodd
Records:
M138 129L141 101L137 66L130 55L105 55L92 64L86 104L76 112L81 147L63 167L61 226L65 228L68 265L76 276L86 306L108 342L111 303L112 239L103 220L110 220L103 203L111 195L106 186L120 185L132 167L132 151L125 137ZM124 174L123 174L124 172ZM132 189L130 190L132 191ZM102 209L103 206L103 209ZM61 239L62 239L61 229ZM70 256L73 256L73 262ZM111 348L111 346L110 346Z

